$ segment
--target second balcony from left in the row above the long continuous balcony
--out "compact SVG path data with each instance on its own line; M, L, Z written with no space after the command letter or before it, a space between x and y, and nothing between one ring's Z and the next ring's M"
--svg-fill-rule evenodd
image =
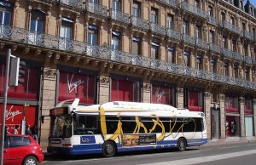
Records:
M93 13L93 14L98 14L98 15L101 15L103 17L108 16L107 7L103 6L101 4L90 3L89 2L86 5L86 9L87 9L87 11L89 11L90 13Z

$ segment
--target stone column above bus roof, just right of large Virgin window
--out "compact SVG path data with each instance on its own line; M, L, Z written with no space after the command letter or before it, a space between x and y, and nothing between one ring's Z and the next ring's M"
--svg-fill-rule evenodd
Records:
M99 104L103 104L109 101L109 89L110 89L110 81L108 75L100 76L99 83L99 92L98 92L98 102Z

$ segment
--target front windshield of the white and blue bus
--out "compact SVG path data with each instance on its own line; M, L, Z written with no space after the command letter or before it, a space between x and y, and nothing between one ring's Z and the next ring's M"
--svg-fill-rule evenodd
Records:
M72 117L55 116L50 119L50 137L70 138L72 136Z

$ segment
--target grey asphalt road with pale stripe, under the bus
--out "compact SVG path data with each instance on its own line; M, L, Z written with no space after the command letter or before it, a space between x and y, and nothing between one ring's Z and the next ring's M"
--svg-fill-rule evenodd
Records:
M221 146L201 146L187 151L134 151L104 158L90 156L45 156L43 165L256 165L256 142Z

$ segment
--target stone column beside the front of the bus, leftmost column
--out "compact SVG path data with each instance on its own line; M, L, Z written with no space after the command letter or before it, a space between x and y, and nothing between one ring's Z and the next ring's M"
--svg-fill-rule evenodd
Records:
M42 116L49 116L49 109L55 107L55 89L56 89L55 68L48 65L44 67L43 88L42 88ZM41 124L40 145L45 149L48 145L49 137L49 117L44 117L44 123Z

